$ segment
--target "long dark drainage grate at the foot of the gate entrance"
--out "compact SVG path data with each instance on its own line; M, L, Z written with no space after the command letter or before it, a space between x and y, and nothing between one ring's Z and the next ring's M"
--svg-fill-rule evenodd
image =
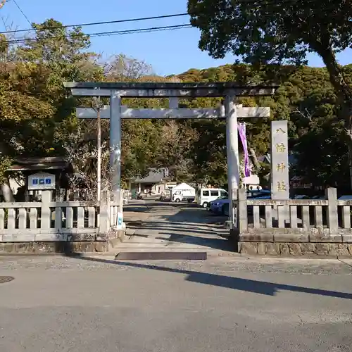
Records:
M121 252L117 260L206 260L206 252Z

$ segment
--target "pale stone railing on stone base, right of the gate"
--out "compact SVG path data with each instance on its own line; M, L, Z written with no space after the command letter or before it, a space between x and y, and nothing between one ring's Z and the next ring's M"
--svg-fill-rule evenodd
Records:
M244 189L236 196L232 238L240 253L352 255L352 201L339 201L336 189L324 200L246 199Z

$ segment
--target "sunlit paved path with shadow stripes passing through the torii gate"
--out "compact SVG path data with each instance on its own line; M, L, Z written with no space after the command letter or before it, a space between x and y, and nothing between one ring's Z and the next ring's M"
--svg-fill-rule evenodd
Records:
M228 230L219 225L223 219L207 210L195 205L158 201L145 201L144 204L144 219L127 222L127 240L114 249L116 252L206 251L208 254L235 255L225 237Z

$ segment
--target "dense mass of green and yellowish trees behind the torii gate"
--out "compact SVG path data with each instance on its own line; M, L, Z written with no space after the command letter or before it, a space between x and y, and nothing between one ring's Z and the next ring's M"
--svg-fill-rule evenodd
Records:
M88 175L89 182L95 184L96 121L75 117L75 108L91 107L92 99L71 96L63 81L180 80L279 83L275 96L246 97L238 101L244 106L270 106L272 111L270 118L244 120L256 171L261 168L263 174L268 172L259 157L270 152L270 120L287 119L290 149L296 160L291 168L293 175L316 185L345 187L348 179L346 125L340 118L339 94L331 84L328 69L234 63L159 77L149 64L123 54L102 62L99 55L89 51L89 37L80 28L70 30L53 19L34 27L37 28L34 36L22 44L13 46L4 39L0 47L4 54L0 59L0 182L6 181L4 170L15 158L65 156L73 163L77 175ZM344 73L344 80L351 82L352 65L339 69ZM167 99L122 99L122 103L131 108L168 106ZM180 106L185 108L212 107L218 103L220 99L180 99ZM103 120L103 175L106 177L108 139L109 122ZM128 178L144 176L150 168L159 167L169 168L177 181L226 184L225 121L122 120L125 184Z

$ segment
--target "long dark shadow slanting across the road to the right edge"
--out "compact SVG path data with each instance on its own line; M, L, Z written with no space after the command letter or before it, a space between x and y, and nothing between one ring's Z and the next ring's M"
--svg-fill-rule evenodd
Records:
M351 293L331 291L325 289L313 289L311 287L301 287L288 284L277 284L275 282L265 282L253 279L242 279L240 277L230 277L225 275L209 274L208 272L195 272L191 270L182 270L175 268L165 268L158 265L148 265L142 263L130 263L119 260L106 260L101 258L87 258L84 256L75 256L81 260L88 260L99 263L122 265L130 268L158 270L163 272L172 272L182 275L187 275L185 278L188 282L195 282L199 284L206 284L215 287L224 287L227 289L234 289L237 291L252 292L255 294L263 294L265 296L275 296L278 291L291 291L303 294L315 294L318 296L329 296L334 298L352 299Z

